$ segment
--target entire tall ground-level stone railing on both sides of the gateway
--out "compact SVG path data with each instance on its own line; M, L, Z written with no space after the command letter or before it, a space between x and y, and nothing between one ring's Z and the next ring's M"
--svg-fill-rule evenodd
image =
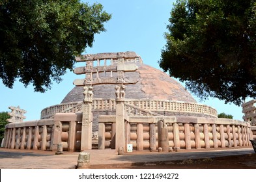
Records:
M99 116L98 148L115 148L115 116ZM81 149L81 113L59 113L54 118L9 123L4 148L63 151ZM236 148L250 146L256 128L248 122L220 118L126 116L125 140L137 150L158 149L158 121L167 125L169 148Z

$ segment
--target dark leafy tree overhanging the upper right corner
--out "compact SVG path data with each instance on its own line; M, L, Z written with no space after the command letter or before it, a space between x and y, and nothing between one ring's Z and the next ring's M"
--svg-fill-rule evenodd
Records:
M178 0L160 67L201 99L256 98L256 1Z

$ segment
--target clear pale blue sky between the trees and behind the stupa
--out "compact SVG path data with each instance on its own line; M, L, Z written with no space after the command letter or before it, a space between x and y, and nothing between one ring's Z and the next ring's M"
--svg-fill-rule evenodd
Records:
M105 23L106 32L96 34L92 48L86 53L107 53L135 51L140 55L144 64L160 69L161 50L165 45L164 32L170 18L174 1L167 0L98 0L84 1L101 3L112 18ZM81 66L77 64L76 66ZM25 120L39 120L42 109L61 103L64 96L74 88L74 79L82 78L73 72L67 72L63 81L53 83L51 90L46 93L34 92L33 86L25 88L16 81L12 89L7 88L0 81L0 112L10 111L9 106L20 106L27 110ZM183 84L182 84L183 85ZM195 98L197 99L197 98ZM225 104L224 101L209 98L199 103L209 105L218 110L218 113L231 114L236 120L242 120L242 107Z

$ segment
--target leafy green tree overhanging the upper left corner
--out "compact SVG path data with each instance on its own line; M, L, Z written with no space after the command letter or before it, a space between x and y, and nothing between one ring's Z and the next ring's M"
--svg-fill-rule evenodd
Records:
M0 78L12 88L19 79L36 92L59 83L75 56L92 47L94 34L111 18L100 4L79 0L1 0Z

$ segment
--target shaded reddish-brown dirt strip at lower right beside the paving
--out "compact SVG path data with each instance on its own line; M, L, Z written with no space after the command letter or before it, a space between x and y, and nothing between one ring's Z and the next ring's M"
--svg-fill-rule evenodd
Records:
M92 169L256 169L256 153L229 157L188 159L173 162L152 162L147 164L92 165Z

